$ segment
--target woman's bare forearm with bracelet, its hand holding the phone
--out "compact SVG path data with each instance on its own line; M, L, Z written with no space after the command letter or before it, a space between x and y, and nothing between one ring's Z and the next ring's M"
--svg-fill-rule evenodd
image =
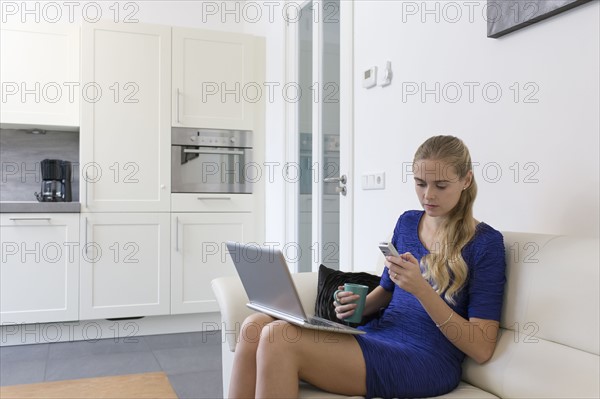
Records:
M499 328L497 321L476 318L466 320L454 313L423 278L419 263L411 254L389 256L386 259L392 281L419 300L431 320L450 342L477 363L484 363L492 357Z

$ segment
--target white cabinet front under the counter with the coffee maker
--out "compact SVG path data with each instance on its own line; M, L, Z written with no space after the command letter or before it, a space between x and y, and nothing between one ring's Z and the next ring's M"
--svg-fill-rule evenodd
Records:
M0 324L77 320L79 214L0 218Z

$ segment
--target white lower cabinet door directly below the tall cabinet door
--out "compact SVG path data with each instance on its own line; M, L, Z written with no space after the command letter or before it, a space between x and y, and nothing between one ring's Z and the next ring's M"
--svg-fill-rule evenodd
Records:
M81 319L169 314L169 214L81 220Z

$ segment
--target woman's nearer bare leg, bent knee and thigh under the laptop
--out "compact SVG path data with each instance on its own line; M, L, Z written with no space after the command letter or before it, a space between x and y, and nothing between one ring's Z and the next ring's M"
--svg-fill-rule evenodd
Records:
M257 347L256 397L297 398L299 379L326 391L366 394L366 365L356 339L274 321Z

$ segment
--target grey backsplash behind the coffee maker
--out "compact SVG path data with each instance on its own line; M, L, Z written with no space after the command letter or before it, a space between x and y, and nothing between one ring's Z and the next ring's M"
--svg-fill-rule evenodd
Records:
M37 201L43 159L62 159L73 164L73 202L79 202L79 133L0 129L0 201Z

